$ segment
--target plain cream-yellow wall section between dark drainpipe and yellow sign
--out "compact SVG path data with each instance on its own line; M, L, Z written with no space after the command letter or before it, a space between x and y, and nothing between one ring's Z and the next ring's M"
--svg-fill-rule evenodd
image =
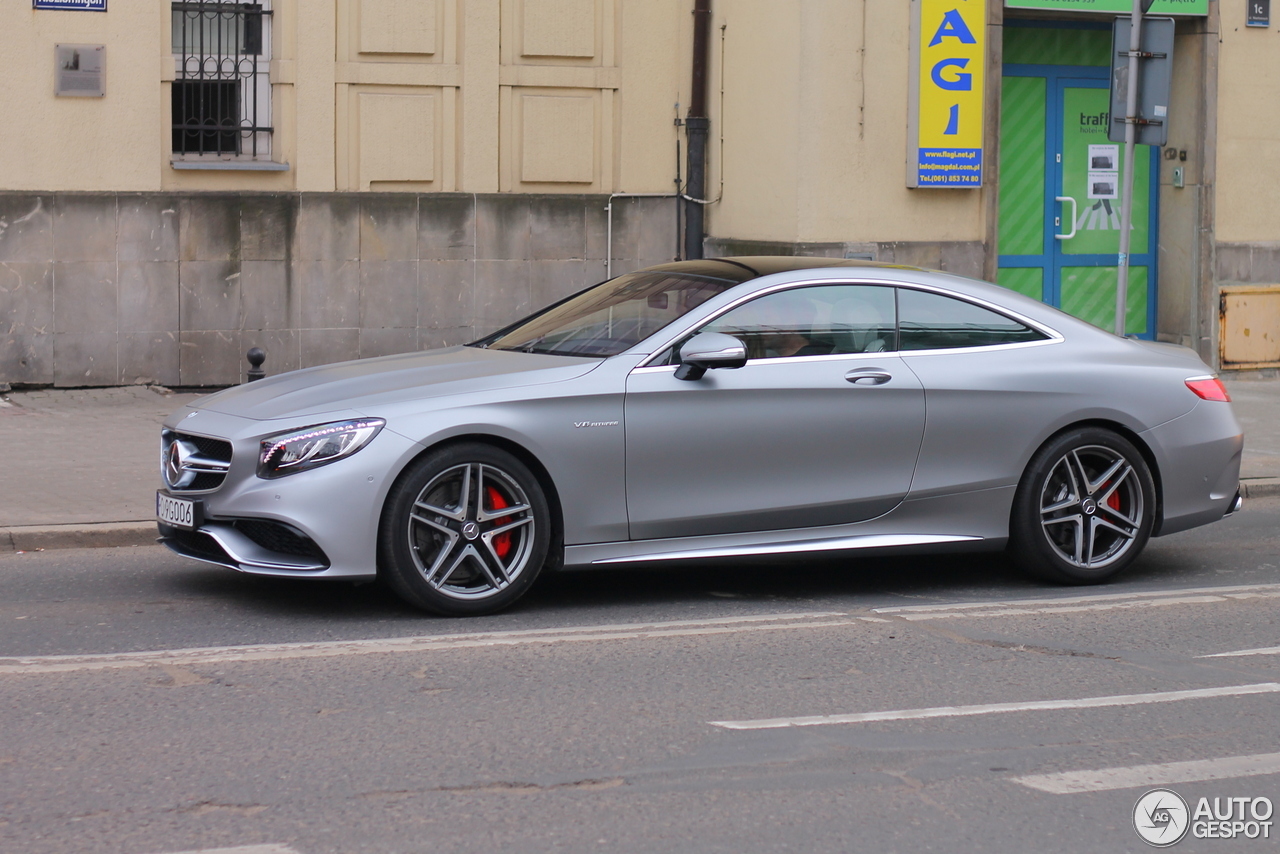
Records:
M712 233L983 239L980 191L906 188L909 4L808 0L787 14L774 0L713 8L713 86L723 26L726 91L723 115L712 93L712 161L723 131L726 191L710 209Z

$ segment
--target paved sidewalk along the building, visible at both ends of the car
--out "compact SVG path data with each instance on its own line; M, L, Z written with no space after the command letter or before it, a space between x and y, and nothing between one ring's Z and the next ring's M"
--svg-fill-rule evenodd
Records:
M1280 495L1280 380L1228 380L1247 498ZM0 394L0 552L155 542L160 423L197 394L131 385Z

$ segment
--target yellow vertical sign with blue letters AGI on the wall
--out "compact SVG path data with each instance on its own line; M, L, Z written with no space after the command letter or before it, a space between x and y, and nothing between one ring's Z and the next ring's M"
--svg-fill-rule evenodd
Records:
M911 1L908 187L982 186L987 0Z

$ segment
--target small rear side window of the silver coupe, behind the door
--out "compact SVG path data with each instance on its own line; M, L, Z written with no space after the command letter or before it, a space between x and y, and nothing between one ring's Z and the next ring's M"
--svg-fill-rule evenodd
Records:
M1043 334L996 311L928 291L899 288L902 350L952 350L1041 341Z

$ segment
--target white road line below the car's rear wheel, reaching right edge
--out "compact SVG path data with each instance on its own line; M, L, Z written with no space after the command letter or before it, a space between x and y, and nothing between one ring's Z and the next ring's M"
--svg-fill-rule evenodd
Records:
M901 620L957 620L978 617L1016 617L1043 613L1078 613L1082 611L1124 611L1175 604L1208 604L1243 599L1280 598L1280 584L1243 584L1220 588L1184 588L1176 590L1143 590L1135 593L1097 593L1052 599L1006 599L996 602L952 602L947 604L915 604L873 608L872 613Z

